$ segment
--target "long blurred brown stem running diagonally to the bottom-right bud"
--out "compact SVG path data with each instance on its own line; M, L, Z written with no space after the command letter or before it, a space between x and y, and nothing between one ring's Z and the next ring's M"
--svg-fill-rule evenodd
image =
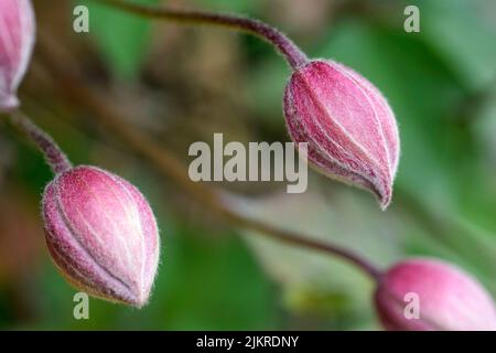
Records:
M242 228L294 246L341 257L357 266L374 280L380 280L381 270L360 255L304 234L284 231L258 220L247 217L224 202L224 199L219 196L216 189L207 184L193 182L188 176L187 169L177 158L160 143L153 141L145 133L127 122L129 120L125 118L126 113L122 111L118 104L106 99L104 95L91 88L82 75L67 65L67 63L73 62L68 52L64 51L50 38L41 35L40 39L42 45L40 56L42 60L44 58L44 64L53 77L56 77L55 82L58 84L57 88L60 93L68 100L89 110L93 114L90 116L95 117L96 122L105 125L112 136L120 139L132 151L143 157L157 172L172 180L198 203L202 203L225 220Z

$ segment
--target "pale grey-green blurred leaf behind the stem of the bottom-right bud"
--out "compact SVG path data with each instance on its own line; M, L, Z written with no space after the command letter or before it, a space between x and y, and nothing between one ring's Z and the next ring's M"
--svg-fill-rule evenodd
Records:
M336 188L323 197L322 190L311 183L304 194L229 200L249 216L353 249L385 267L405 255L405 233L398 217L380 212L371 196L356 193L360 191ZM373 284L354 266L252 232L246 232L245 239L268 274L282 285L291 310L375 322L370 320Z

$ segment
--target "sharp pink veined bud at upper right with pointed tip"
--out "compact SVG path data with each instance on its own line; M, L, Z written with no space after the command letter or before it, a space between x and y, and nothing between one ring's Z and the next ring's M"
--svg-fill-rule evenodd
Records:
M312 61L298 68L284 94L291 138L308 142L309 161L327 176L371 191L382 208L398 168L395 115L380 92L351 68Z

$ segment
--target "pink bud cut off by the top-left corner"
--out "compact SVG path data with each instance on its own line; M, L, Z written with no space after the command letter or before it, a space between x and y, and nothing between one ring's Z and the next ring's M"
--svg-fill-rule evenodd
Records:
M0 113L19 106L17 90L31 58L34 32L30 0L0 1Z

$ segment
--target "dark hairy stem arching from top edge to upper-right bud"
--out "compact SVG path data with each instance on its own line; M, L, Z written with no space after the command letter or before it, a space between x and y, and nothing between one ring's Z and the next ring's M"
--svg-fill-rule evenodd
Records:
M293 69L309 62L306 55L285 34L259 20L207 11L150 7L123 0L101 0L101 2L141 17L165 19L183 23L220 25L251 33L276 46Z

